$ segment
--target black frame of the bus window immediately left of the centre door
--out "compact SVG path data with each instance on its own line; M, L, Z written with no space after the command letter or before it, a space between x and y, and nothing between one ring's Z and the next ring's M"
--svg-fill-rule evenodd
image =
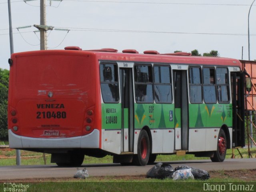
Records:
M169 68L169 72L170 72L170 83L156 83L155 82L155 67L168 67ZM157 102L156 101L156 96L155 96L155 85L169 85L171 86L171 102ZM164 65L164 64L154 64L153 65L153 95L154 95L154 101L157 104L172 104L173 103L173 84L172 84L172 67L170 66L170 64Z

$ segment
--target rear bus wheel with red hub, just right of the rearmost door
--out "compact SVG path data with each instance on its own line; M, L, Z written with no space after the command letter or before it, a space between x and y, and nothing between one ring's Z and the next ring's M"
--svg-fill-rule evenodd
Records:
M137 155L134 156L133 161L137 165L145 166L148 164L150 144L148 133L146 130L141 130L138 138Z

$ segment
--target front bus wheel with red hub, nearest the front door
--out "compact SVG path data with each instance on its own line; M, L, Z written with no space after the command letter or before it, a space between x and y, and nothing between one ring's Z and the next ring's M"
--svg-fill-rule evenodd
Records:
M226 134L223 129L220 129L217 142L217 151L214 152L214 156L211 157L212 162L223 162L227 152L227 140Z

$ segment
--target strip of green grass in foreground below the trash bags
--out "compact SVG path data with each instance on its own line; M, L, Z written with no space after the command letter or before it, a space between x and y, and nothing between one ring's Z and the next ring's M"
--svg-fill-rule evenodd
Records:
M254 184L250 182L243 182L236 179L228 179L223 182L221 179L209 179L207 181L201 180L179 180L172 179L143 179L143 180L116 180L112 177L106 177L103 180L98 180L97 177L87 179L70 179L70 180L56 180L54 182L15 182L29 185L26 191L36 192L189 192L189 191L204 191L204 185L222 185L225 186L225 191L229 191L229 183L232 185L246 185ZM1 190L2 189L2 190ZM253 188L255 190L255 186ZM3 185L0 184L0 191L3 191ZM218 190L217 190L218 191Z

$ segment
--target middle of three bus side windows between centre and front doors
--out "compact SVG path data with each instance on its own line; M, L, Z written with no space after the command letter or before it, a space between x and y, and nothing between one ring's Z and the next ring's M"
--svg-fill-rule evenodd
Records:
M204 102L216 103L216 83L214 68L203 68L204 77Z

